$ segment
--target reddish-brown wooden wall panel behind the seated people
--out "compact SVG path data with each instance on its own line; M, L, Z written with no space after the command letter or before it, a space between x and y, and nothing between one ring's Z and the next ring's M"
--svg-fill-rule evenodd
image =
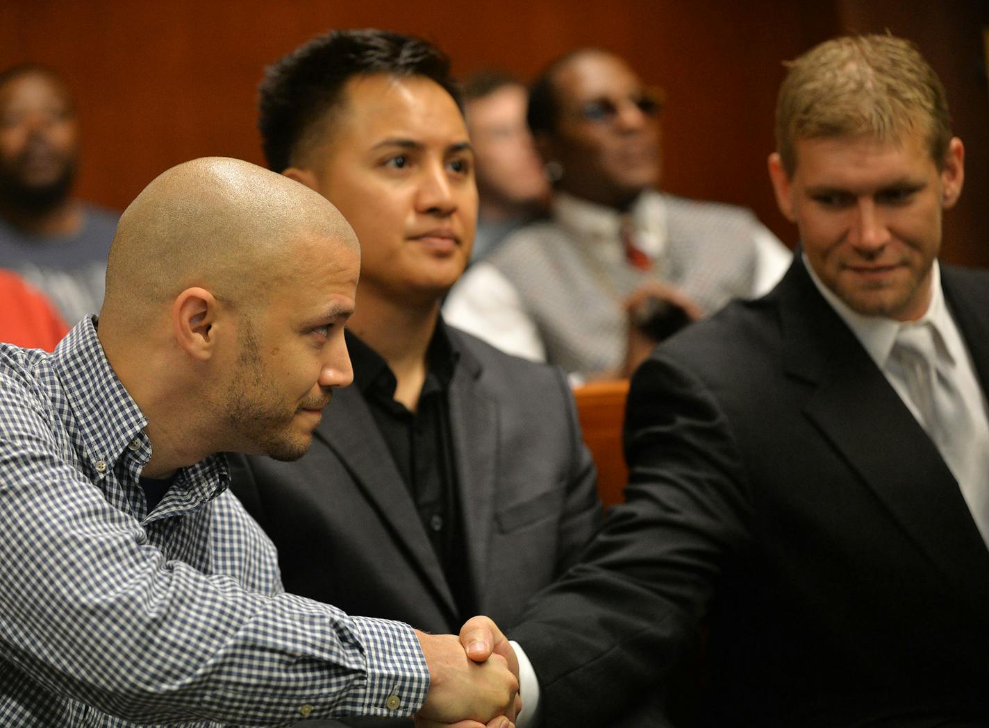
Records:
M79 193L121 208L156 174L192 157L223 154L260 163L254 94L262 68L329 28L378 26L425 36L453 56L460 73L495 65L527 77L561 52L601 45L625 55L644 78L668 91L665 187L748 204L792 243L795 231L776 211L765 175L781 60L843 27L880 22L883 16L874 8L861 10L872 7L866 0L809 5L786 0L5 0L0 66L40 60L66 75L78 96L84 133ZM893 0L879 6L909 21L910 13L896 10L900 5ZM970 21L977 12L962 15ZM947 18L950 13L928 15L933 17L905 21L904 32L926 33L932 47L925 50L944 58L945 65L967 36L981 38L978 27L964 28ZM936 65L942 73L956 72L956 64ZM977 113L965 109L966 129L989 129L984 82L981 94ZM983 162L986 149L981 141L975 147ZM952 216L963 230L989 228L989 206L979 202ZM982 250L987 247L949 250L956 259L989 266Z

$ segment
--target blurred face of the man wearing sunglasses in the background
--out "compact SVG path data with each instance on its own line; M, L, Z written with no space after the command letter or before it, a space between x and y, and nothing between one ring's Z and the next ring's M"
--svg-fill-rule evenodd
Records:
M559 188L624 207L660 180L660 101L621 58L588 50L554 74L556 129L540 151L563 167Z

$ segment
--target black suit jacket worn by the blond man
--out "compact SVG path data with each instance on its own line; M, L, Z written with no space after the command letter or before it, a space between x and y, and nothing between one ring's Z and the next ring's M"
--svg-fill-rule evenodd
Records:
M989 275L942 271L989 391ZM655 724L705 617L707 724L989 725L989 550L799 255L654 352L625 438L627 503L510 635L547 726Z

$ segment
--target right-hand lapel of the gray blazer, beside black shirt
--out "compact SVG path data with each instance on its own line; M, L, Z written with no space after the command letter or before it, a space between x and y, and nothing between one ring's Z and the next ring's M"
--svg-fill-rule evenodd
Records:
M465 349L456 332L447 331L460 353L460 362L450 382L450 429L460 486L461 523L475 604L484 610L497 486L497 406L484 388L478 386L481 363Z

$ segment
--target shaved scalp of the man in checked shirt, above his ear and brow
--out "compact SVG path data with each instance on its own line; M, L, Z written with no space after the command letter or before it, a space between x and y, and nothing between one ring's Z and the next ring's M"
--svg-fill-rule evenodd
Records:
M206 157L159 175L121 216L101 311L141 324L181 291L206 288L238 308L303 265L315 241L357 248L339 211L299 183L248 162Z

